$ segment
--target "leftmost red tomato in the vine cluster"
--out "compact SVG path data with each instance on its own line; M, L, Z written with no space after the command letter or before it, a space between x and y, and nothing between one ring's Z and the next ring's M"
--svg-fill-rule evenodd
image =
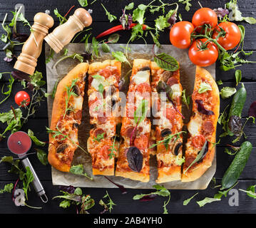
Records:
M191 44L190 35L194 30L189 21L179 21L170 29L170 43L176 48L189 48Z

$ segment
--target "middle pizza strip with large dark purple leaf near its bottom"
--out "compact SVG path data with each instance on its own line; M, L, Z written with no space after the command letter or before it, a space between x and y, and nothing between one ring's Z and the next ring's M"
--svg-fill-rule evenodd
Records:
M122 118L121 137L116 163L116 176L148 182L150 112L150 61L135 59L126 98L126 113Z

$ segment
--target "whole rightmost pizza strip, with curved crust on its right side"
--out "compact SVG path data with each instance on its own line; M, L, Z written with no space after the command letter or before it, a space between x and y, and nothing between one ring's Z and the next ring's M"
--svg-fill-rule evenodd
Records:
M188 123L189 138L185 148L182 182L191 182L201 177L212 165L215 155L220 95L210 73L198 66L192 100L193 115Z

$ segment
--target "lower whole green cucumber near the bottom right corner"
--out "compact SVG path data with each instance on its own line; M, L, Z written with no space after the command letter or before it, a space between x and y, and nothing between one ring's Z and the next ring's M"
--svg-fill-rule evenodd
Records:
M222 177L222 187L220 190L225 190L235 185L242 173L242 170L245 168L251 152L252 143L248 141L242 142L240 150L237 152L234 160L232 160L230 166Z

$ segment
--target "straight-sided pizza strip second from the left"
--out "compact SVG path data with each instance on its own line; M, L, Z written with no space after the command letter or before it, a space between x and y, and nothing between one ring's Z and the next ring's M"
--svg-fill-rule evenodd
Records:
M118 83L121 79L121 62L106 60L91 63L88 69L88 105L90 137L87 149L91 154L93 175L114 175L115 157L119 143L116 126L118 115Z

